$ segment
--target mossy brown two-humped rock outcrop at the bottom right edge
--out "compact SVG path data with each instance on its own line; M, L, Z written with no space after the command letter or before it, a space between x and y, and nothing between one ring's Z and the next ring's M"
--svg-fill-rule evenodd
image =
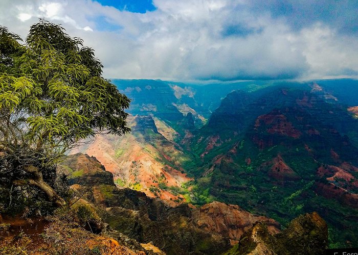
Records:
M265 223L257 222L226 254L324 254L327 244L327 224L314 212L294 219L276 235L269 233Z

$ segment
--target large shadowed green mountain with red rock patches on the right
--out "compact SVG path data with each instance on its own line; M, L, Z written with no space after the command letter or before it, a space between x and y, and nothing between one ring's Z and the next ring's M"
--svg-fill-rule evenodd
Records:
M283 224L318 211L333 242L357 244L358 226L345 231L358 215L357 132L346 106L307 85L235 91L190 141L189 171L216 199Z

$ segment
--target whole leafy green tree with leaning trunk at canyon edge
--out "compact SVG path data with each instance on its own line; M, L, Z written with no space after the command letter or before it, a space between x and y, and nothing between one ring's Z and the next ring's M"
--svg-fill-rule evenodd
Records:
M60 25L40 20L19 41L0 27L0 203L36 191L63 206L56 163L83 139L129 132L130 99L103 79L94 50Z

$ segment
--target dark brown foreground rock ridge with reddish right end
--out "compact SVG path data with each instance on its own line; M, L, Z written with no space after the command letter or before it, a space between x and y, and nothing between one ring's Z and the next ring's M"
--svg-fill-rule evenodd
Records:
M103 199L101 217L115 230L140 243L153 245L169 254L220 254L237 243L256 221L279 232L278 222L253 215L238 206L212 202L201 208L187 204L170 207L142 192L113 189Z

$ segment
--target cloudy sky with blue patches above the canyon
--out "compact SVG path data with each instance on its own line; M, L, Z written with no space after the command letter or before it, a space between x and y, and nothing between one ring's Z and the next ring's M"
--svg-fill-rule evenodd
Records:
M25 38L39 18L95 50L108 79L358 78L356 0L0 0Z

